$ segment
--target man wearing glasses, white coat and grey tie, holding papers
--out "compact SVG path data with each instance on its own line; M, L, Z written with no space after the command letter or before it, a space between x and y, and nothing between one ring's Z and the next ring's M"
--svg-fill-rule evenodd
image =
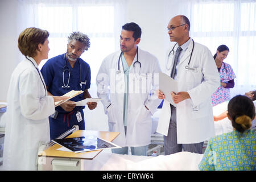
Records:
M168 24L171 42L176 42L168 60L166 74L178 82L171 92L176 106L164 100L158 133L164 135L165 155L188 151L203 154L203 143L214 133L210 96L220 86L220 76L209 49L189 37L190 22L177 15ZM166 98L159 90L158 98Z

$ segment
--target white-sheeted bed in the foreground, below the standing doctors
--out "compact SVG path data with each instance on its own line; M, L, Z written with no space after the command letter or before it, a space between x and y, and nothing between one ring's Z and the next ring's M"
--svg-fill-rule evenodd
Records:
M86 171L197 171L203 154L178 152L171 155L135 156L101 152L84 162Z

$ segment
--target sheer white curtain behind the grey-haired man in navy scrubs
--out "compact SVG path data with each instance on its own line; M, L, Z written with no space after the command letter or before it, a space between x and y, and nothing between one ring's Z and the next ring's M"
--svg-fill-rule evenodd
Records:
M87 34L91 45L81 58L89 63L94 84L101 61L119 48L125 3L123 0L19 0L19 29L38 27L49 31L49 58L67 51L71 32Z

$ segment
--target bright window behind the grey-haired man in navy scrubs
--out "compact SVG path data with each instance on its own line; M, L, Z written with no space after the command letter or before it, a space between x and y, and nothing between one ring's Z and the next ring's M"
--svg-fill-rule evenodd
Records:
M111 5L42 5L38 6L38 27L49 31L49 59L67 51L67 38L80 31L90 38L90 48L81 59L90 65L92 83L102 60L115 51L114 6ZM120 26L121 27L121 26ZM47 60L43 60L39 68Z

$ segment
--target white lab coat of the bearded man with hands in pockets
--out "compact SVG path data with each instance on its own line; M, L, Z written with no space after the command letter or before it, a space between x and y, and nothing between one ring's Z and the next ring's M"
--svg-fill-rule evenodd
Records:
M104 98L102 104L104 105L105 113L108 114L109 131L120 132L113 142L121 147L146 146L150 144L151 115L154 114L161 102L156 96L158 73L160 72L159 62L155 56L138 48L138 60L141 62L141 75L139 77L134 74L138 73L139 68L137 63L135 64L135 68L133 67L134 62L137 60L137 55L135 55L129 71L127 131L125 135L123 125L125 75L123 73L121 59L119 62L121 73L117 73L120 53L121 51L114 52L102 61L96 79L97 94L98 97ZM146 75L146 73L151 73L151 75ZM135 86L138 83L142 84L145 80L147 86L151 86L150 89L146 89L145 85ZM155 92L154 96L152 96L152 92ZM112 105L106 109L110 103ZM144 105L146 105L149 110L147 110Z

